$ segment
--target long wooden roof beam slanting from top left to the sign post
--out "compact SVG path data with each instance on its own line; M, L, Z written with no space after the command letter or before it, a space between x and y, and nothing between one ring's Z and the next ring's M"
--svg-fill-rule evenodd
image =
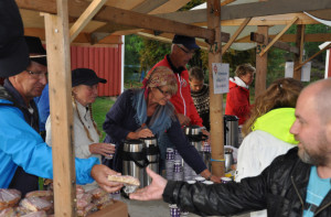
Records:
M35 10L47 13L56 13L55 0L25 1L17 0L17 3L22 9ZM77 18L88 7L87 2L83 1L68 1L70 13L72 17ZM189 25L177 21L170 21L153 15L137 13L114 7L104 7L94 18L94 20L103 22L116 22L118 24L131 25L136 28L143 28L148 30L157 30L161 32L177 33L188 36L201 37L207 40L210 43L214 41L215 32L204 28ZM227 34L227 33L223 33Z

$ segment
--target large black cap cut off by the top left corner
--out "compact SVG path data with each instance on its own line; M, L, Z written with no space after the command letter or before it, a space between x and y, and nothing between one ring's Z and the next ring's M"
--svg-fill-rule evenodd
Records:
M0 0L0 77L14 76L29 64L19 8L14 0Z

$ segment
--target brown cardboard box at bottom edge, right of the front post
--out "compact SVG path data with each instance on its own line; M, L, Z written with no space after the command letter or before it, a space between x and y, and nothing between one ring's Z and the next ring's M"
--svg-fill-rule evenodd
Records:
M127 204L114 200L114 204L110 204L106 208L98 210L88 215L88 217L128 217L128 206Z

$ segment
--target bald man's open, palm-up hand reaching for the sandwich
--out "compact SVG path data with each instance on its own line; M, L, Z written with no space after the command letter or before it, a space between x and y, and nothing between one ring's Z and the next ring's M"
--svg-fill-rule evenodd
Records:
M149 167L147 167L146 171L147 174L152 178L152 183L147 187L143 187L142 189L138 189L137 192L130 194L130 199L152 200L162 198L162 194L167 185L167 180L151 171Z

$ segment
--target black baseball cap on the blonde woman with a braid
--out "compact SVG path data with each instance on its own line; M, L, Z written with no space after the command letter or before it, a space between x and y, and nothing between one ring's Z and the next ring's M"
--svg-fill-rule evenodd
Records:
M73 87L78 86L78 85L93 86L98 83L106 84L107 80L98 77L93 69L76 68L72 72L72 86Z

